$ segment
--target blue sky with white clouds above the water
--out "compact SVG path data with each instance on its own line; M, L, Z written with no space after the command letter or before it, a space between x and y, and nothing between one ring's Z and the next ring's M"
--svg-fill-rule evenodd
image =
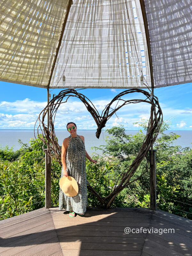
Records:
M33 129L35 121L46 106L47 90L33 86L0 82L0 129ZM50 89L51 94L61 90ZM85 89L80 91L88 97L98 111L108 104L122 89ZM192 83L156 88L154 94L158 97L163 110L164 121L171 121L170 130L192 130ZM127 96L128 97L128 96ZM130 96L129 96L130 97ZM138 95L132 96L138 98ZM132 104L121 108L108 120L106 128L122 124L127 130L138 130L133 123L148 119L150 106L144 103ZM96 129L95 121L84 105L71 97L59 108L55 129L66 129L66 124L73 120L78 129Z

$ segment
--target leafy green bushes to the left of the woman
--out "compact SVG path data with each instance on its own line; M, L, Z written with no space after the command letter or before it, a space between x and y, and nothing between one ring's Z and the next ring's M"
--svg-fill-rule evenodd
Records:
M41 140L16 152L5 147L0 161L0 220L45 206L45 156ZM17 154L16 154L17 153ZM16 160L10 162L16 157ZM59 200L60 165L52 166L52 205Z

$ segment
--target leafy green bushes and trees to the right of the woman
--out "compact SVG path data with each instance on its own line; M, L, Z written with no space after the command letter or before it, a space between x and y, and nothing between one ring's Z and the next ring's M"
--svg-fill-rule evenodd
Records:
M140 126L146 130L147 123L147 121L143 121ZM164 131L169 128L169 124L168 122L163 123L160 135L154 143L157 208L192 219L192 149L172 145L180 135L174 132L165 134ZM107 132L110 137L106 138L106 145L93 147L102 152L102 157L98 156L99 164L95 166L87 164L87 173L90 173L88 180L103 196L108 195L118 184L119 176L136 157L145 137L142 130L136 135L127 135L123 126L112 127ZM107 168L105 168L107 163L110 164L113 171L107 172ZM150 177L147 159L141 162L134 174L134 179L138 180L132 182L116 197L112 207L150 207ZM89 195L89 200L92 205L99 206L97 199L92 194Z

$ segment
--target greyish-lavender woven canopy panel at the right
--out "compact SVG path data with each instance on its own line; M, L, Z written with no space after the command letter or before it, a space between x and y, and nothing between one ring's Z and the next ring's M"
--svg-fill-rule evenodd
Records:
M192 82L192 1L145 0L155 87Z

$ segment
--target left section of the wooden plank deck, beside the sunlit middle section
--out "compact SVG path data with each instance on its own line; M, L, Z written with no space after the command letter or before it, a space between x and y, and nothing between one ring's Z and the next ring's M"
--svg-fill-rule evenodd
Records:
M0 221L1 256L63 256L48 209Z

